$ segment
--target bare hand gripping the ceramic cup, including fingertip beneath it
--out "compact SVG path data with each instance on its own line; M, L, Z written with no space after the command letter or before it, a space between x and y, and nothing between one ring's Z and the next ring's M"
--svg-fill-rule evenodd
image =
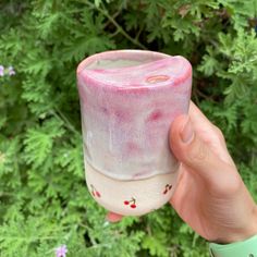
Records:
M176 118L170 146L181 161L171 205L208 241L231 243L257 234L257 206L228 152L221 131L191 102ZM110 221L122 217L109 213Z

